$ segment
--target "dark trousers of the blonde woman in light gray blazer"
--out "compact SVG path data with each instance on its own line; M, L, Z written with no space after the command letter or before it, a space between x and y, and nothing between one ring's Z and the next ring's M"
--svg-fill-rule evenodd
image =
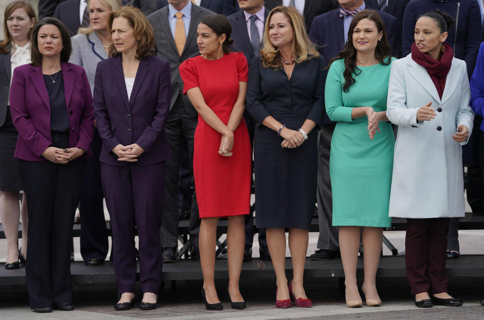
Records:
M81 187L81 255L84 262L90 259L104 261L109 243L107 239L106 221L102 200L104 193L101 183L101 154L102 141L97 130L91 143L92 157L87 160L84 180Z

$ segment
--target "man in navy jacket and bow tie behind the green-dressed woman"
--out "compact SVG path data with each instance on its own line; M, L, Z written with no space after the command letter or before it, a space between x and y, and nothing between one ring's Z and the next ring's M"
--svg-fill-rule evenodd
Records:
M372 9L364 0L338 0L339 5L346 11L361 11ZM373 10L373 9L372 9ZM397 54L401 48L400 27L395 17L378 12L385 24L388 42ZM353 16L342 15L340 9L327 12L314 19L309 32L311 40L320 45L319 52L323 55L326 63L338 55L343 49L347 38L347 29ZM329 154L331 138L336 123L329 120L325 114L321 131L319 132L318 146L318 190L316 200L318 202L319 250L311 255L312 260L334 258L339 251L338 228L333 227L333 206L331 195L331 180L329 177Z

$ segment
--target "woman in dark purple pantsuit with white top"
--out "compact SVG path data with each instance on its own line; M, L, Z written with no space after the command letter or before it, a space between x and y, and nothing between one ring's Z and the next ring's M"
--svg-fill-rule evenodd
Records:
M135 299L135 227L138 229L140 309L156 308L161 286L160 225L165 159L170 156L165 123L171 80L168 61L154 56L153 28L139 9L109 13L110 58L97 65L94 110L102 140L101 179L111 217L113 263L120 294L115 310Z

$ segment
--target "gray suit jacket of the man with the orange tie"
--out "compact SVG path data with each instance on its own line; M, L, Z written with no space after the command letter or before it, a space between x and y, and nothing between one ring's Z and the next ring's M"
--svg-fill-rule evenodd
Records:
M176 50L175 40L171 35L170 24L168 21L168 6L161 8L148 16L148 21L153 26L155 31L156 41L156 55L168 60L170 62L171 71L171 101L170 110L176 101L179 94L183 94L183 80L181 80L180 72L178 71L181 62L188 58L194 57L200 54L197 45L197 37L195 32L197 31L198 24L203 17L213 15L208 9L192 5L192 17L190 20L190 27L188 29L187 42L181 56L178 55ZM187 112L192 116L198 116L197 110L192 106L192 103L187 96L183 96L183 102Z

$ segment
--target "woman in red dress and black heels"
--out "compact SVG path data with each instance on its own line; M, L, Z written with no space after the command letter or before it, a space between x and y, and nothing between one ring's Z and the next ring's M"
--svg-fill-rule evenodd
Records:
M202 220L202 296L208 310L221 310L214 282L219 217L227 217L229 284L234 309L244 309L238 282L244 257L244 215L250 213L251 144L243 118L248 67L243 53L230 52L232 28L222 15L205 17L197 29L199 56L181 64L184 93L199 113L193 171Z

